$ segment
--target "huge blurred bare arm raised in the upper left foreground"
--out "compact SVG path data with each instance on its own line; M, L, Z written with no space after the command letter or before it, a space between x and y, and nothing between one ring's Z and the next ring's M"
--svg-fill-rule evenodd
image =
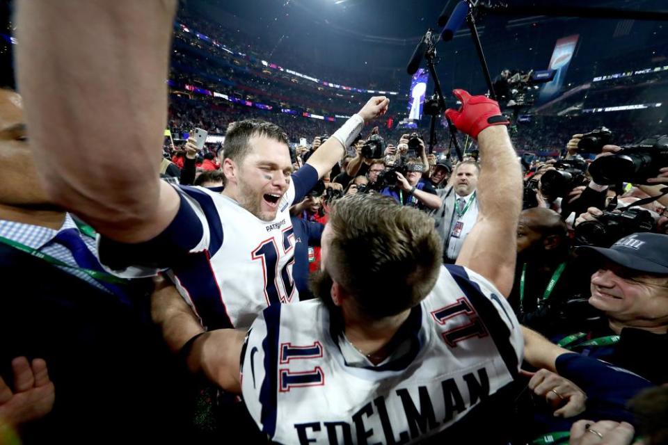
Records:
M47 193L116 241L153 238L179 207L158 172L176 6L17 2L19 86Z

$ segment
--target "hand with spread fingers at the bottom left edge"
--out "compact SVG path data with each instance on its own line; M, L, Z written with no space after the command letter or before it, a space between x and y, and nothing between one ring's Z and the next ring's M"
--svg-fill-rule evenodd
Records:
M56 396L54 383L49 379L47 362L26 357L12 360L14 390L0 378L0 424L20 426L40 419L54 407Z

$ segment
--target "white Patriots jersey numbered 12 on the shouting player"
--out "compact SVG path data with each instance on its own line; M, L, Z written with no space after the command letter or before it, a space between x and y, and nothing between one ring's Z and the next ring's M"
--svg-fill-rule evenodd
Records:
M178 239L180 233L184 238L190 236L194 247L189 246L189 254L170 262L165 271L202 326L208 330L248 328L267 306L299 300L292 280L294 234L289 215L295 181L290 181L278 203L276 218L269 222L206 188L175 186L175 190L181 195L180 213L185 208L189 218L198 219L191 219L190 225L201 223L201 229L196 230L202 234L198 242L193 241L195 230L184 227L177 215L166 233L170 239ZM107 270L127 278L152 276L159 271L142 266Z

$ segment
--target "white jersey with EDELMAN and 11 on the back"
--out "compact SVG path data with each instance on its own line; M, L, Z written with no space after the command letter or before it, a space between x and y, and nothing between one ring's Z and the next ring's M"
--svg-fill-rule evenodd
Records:
M518 373L517 318L490 282L461 266L443 266L404 328L412 339L406 353L350 366L323 302L266 309L241 357L244 401L257 426L281 444L420 442Z

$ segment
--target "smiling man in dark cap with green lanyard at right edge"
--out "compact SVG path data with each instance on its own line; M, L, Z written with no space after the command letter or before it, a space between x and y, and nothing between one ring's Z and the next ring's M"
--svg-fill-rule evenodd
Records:
M569 335L559 346L667 383L668 369L658 366L655 354L668 348L668 235L636 233L611 248L575 252L598 268L589 304L605 314L607 326Z

